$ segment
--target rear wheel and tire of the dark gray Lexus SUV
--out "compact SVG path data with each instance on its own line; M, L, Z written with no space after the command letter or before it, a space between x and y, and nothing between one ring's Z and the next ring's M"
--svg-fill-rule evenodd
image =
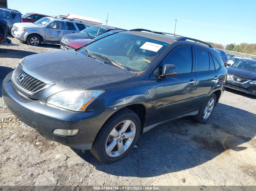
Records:
M213 103L212 103L213 101ZM205 123L210 118L216 106L217 97L212 93L204 102L197 115L192 116L199 123Z

